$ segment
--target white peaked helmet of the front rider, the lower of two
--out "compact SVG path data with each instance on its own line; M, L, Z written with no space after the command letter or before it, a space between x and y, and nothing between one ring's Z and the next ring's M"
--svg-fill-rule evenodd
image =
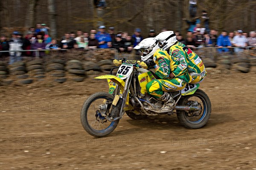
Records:
M141 56L142 61L146 61L152 57L158 48L160 48L159 43L153 37L142 40L136 47L134 47L134 49L140 50L143 53Z

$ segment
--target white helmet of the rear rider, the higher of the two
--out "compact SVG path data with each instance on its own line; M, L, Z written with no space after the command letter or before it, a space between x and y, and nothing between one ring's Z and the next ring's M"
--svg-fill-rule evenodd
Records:
M159 42L159 46L163 50L167 50L177 42L176 34L173 31L163 31L155 39Z

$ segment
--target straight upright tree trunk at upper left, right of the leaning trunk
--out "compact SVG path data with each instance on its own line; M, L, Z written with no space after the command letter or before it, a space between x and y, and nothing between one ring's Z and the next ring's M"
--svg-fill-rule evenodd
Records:
M57 38L55 0L48 0L49 26L52 38Z

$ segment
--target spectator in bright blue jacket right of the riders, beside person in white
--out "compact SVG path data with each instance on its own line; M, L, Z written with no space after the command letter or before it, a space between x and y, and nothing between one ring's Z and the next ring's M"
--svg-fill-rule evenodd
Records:
M227 31L221 32L221 35L217 39L217 46L220 47L218 49L219 53L230 51L228 48L222 48L222 47L231 47L231 42L230 42L229 36L227 35Z

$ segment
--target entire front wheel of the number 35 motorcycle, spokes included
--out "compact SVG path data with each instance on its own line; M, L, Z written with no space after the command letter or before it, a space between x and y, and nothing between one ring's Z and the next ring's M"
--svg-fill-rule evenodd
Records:
M90 135L96 137L107 136L118 125L119 119L109 122L102 116L99 106L105 107L105 114L110 115L114 96L106 92L98 92L91 95L82 106L80 119L81 124ZM102 111L102 110L101 110Z

